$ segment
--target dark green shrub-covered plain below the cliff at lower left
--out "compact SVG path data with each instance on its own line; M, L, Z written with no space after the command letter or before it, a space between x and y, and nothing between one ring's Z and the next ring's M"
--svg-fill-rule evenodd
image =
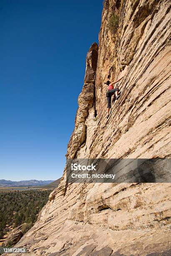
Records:
M23 223L26 224L22 231L26 233L37 220L50 192L51 189L0 192L0 238L2 239L11 227L16 228Z

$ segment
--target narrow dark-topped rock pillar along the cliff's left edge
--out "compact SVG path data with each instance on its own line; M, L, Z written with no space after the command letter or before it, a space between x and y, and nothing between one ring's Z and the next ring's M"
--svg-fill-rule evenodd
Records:
M86 70L82 92L78 97L78 110L75 118L75 129L68 143L66 157L74 158L78 149L85 145L87 125L85 123L91 112L95 95L95 75L98 59L98 45L94 43L87 54ZM93 107L94 111L94 107ZM84 144L83 144L84 143Z

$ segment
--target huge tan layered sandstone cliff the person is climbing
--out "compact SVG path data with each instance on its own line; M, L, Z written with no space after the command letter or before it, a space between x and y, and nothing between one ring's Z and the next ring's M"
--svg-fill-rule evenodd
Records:
M93 44L87 55L67 157L169 157L170 8L169 0L104 1L99 47ZM122 76L121 97L106 119L104 82ZM67 184L64 170L17 246L27 246L28 255L169 255L170 187Z

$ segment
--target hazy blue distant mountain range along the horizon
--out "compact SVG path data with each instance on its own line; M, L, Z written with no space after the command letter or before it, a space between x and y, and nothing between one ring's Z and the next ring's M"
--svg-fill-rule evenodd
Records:
M11 180L5 180L0 179L0 187L33 187L33 186L44 186L48 185L51 182L54 182L54 180L36 180L36 179L30 179L30 180L21 180L19 182L11 181Z

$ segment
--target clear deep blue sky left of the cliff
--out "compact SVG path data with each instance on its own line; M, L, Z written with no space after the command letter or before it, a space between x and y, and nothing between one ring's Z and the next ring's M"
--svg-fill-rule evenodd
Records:
M0 179L58 179L103 0L0 0Z

